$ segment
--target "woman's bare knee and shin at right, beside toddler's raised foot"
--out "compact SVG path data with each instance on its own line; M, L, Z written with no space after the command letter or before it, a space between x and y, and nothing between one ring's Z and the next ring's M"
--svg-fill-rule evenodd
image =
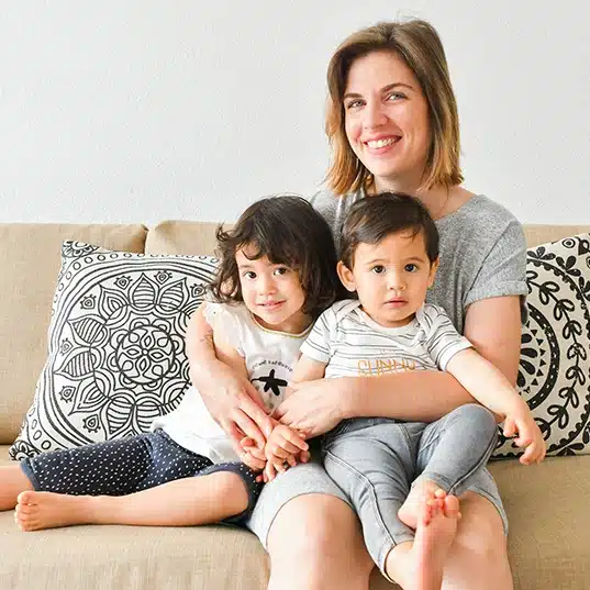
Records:
M460 497L461 520L448 552L443 590L513 590L502 520L475 492Z

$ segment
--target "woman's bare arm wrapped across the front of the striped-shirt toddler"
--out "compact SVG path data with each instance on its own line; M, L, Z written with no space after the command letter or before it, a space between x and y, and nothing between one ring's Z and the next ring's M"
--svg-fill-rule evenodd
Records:
M483 299L469 305L465 336L515 383L521 336L519 297ZM293 390L280 405L280 420L313 436L330 428L335 413L341 420L377 415L432 422L459 405L476 403L452 375L443 371L343 377L296 385Z

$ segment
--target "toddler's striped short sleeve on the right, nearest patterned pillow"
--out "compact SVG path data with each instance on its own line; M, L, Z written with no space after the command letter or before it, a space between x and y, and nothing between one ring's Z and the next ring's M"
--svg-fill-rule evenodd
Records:
M471 343L461 336L443 308L424 305L416 319L426 334L426 350L441 370L446 370L448 361Z

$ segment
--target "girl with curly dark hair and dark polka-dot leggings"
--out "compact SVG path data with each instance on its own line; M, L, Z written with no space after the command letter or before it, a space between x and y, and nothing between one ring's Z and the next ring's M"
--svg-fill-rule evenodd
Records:
M255 202L216 237L221 263L204 312L215 352L249 380L258 404L271 413L313 321L336 297L332 234L305 200L281 196ZM302 433L274 423L293 452L291 465L308 460ZM240 524L260 492L265 463L263 448L235 448L189 388L152 432L0 467L0 510L16 505L23 531Z

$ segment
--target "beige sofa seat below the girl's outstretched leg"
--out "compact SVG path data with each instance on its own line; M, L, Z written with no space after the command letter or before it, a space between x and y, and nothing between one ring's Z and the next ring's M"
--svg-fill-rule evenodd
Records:
M12 513L0 513L0 535L14 527ZM2 588L19 590L258 590L267 578L258 539L227 526L16 532L0 560Z

